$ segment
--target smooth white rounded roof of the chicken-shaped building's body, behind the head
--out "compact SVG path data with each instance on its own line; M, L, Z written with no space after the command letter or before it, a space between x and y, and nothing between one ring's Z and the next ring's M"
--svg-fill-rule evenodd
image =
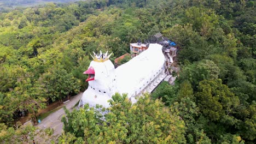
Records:
M150 77L154 78L157 71L162 69L164 62L162 45L150 44L146 51L115 69L118 92L131 96L139 91L139 88L143 89Z

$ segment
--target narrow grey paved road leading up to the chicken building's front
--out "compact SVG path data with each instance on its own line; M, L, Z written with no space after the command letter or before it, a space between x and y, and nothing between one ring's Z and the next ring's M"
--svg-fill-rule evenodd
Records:
M82 98L83 93L79 93L72 97L67 103L63 104L67 107L69 111L72 110L72 107ZM63 108L60 110L51 113L48 117L44 118L37 127L39 128L53 128L54 135L61 135L63 123L61 122L61 118L65 115L65 111Z

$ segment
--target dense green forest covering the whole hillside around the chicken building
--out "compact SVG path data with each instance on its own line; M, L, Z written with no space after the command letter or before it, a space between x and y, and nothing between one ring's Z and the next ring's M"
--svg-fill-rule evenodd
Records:
M31 137L11 127L22 114L35 121L46 103L84 91L92 51L113 52L113 61L129 43L160 32L178 47L176 85L162 83L135 105L114 95L106 122L93 109L67 112L59 142L254 143L255 7L245 0L92 0L2 12L0 142Z

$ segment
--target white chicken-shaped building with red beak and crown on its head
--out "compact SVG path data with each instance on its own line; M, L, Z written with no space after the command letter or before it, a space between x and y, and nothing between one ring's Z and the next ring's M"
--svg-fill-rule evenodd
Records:
M97 104L109 107L108 100L115 93L127 93L127 97L135 103L138 95L152 92L167 75L162 45L149 44L147 50L116 69L109 60L110 55L100 53L98 56L94 53L94 61L84 72L88 74L86 81L89 86L79 102L80 107L86 103L90 107Z

